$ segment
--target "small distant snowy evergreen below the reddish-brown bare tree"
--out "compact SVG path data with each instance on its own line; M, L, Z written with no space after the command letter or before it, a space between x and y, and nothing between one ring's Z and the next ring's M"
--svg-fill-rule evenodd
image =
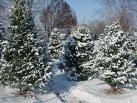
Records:
M59 32L57 28L54 28L50 34L48 50L49 55L51 56L51 61L54 61L54 59L59 59L62 51L62 44L59 38Z

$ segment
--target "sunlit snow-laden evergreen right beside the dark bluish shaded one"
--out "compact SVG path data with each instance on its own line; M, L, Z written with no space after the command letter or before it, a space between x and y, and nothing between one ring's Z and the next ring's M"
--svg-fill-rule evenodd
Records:
M91 75L89 71L93 60L94 43L87 27L79 27L73 36L77 41L78 79L86 80Z

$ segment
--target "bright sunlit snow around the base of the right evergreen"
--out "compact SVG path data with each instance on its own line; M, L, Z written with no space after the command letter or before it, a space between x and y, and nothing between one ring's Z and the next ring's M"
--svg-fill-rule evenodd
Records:
M122 94L108 94L107 84L94 79L80 83L76 88L72 88L68 101L84 101L84 103L137 103L137 91L125 90ZM79 103L79 102L78 102Z

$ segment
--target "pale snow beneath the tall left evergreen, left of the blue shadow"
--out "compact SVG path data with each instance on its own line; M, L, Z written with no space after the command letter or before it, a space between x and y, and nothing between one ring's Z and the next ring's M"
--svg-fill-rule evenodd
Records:
M0 87L0 103L62 103L54 93L33 94L28 97L16 96L11 88Z

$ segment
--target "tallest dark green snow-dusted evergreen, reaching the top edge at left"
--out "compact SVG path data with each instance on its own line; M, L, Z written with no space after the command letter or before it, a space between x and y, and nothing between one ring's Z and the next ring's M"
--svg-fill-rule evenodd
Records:
M7 64L2 68L1 83L26 92L40 87L49 79L36 41L31 8L26 0L13 0L8 45L4 53Z

